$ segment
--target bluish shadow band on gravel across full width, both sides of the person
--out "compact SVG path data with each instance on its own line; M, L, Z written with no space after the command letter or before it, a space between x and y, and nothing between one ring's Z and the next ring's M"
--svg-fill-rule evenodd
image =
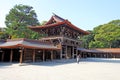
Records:
M80 59L80 63L89 63L89 62L98 62L98 63L120 63L120 59L113 59L113 58L85 58ZM35 62L35 63L0 63L0 68L7 68L11 65L19 65L19 66L28 66L28 65L37 65L37 66L59 66L59 65L67 65L76 63L76 59L62 59L62 60L53 60L53 61L46 61L46 62Z

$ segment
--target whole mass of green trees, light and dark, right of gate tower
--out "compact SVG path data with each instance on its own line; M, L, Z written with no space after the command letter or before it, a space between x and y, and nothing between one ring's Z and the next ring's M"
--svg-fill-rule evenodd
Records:
M113 20L107 24L99 25L91 32L88 35L89 37L85 37L87 42L84 40L88 48L120 47L120 20Z

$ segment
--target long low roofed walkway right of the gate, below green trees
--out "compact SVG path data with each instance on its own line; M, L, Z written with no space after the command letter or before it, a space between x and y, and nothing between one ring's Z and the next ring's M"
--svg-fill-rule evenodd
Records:
M96 48L96 49L78 48L77 50L84 58L86 57L120 58L120 48Z

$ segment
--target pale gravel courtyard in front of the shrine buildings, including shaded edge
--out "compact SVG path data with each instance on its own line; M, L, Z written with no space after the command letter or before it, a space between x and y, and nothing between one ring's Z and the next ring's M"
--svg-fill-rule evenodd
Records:
M22 64L0 63L0 80L120 80L120 59L87 58Z

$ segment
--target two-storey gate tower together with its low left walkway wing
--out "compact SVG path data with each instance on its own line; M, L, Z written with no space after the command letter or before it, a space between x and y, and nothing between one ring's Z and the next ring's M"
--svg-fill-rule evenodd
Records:
M81 37L89 34L56 14L45 25L29 28L44 37L39 40L1 40L0 62L22 63L76 58L82 45Z

